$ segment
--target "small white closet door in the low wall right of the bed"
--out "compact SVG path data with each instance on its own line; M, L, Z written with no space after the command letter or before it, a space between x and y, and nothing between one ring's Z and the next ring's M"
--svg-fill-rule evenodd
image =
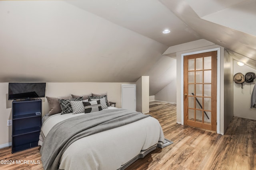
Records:
M122 108L136 110L136 84L122 84Z

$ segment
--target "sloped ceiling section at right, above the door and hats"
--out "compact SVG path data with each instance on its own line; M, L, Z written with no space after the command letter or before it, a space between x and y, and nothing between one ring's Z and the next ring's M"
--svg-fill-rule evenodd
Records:
M160 1L204 39L256 67L256 0Z

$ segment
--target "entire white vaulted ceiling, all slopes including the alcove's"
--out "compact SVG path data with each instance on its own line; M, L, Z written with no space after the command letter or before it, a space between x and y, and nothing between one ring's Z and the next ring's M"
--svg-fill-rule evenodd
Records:
M206 39L256 67L255 27L256 0L0 1L0 82L148 75L154 95L176 78L173 45Z

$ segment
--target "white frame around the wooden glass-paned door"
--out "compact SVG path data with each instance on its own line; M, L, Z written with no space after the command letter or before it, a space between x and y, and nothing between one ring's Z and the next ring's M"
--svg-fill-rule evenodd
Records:
M220 47L214 49L206 49L202 51L194 51L184 53L181 55L181 86L184 87L184 56L199 53L206 53L210 51L217 51L217 129L216 132L220 134ZM184 88L181 88L181 124L184 125Z

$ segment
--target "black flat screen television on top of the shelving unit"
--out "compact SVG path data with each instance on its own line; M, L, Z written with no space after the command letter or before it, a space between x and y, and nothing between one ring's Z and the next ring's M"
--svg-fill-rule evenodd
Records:
M8 100L43 98L46 83L9 83Z

